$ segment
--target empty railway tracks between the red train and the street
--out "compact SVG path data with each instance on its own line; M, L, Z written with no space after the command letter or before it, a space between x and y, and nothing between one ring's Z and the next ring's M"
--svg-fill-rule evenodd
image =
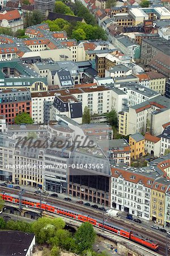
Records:
M6 192L6 193L13 193L15 195L19 194L19 191L16 191L15 189L11 189L11 188L8 189L6 187L3 187L3 188L0 187L0 191L1 192ZM31 199L40 200L40 196L39 195L34 195L32 192L28 192L28 191L26 192L25 191L23 197L24 196L29 197ZM68 204L68 202L65 202L61 199L53 199L52 197L48 197L46 195L44 195L44 196L42 195L42 201L43 200L45 202L49 203L49 204L53 204L53 205L57 204L60 207L63 207L63 208L66 208L66 209L76 210L78 212L83 212L87 215L89 214L91 217L99 218L100 220L103 220L103 218L105 217L103 213L98 212L97 210L92 209L92 208L84 207L83 205L76 205L75 203L71 203L71 202L69 202L69 204ZM159 243L158 253L160 253L162 255L165 255L166 238L164 236L162 236L162 234L155 233L154 231L146 229L146 228L141 227L141 226L137 226L137 225L132 226L130 223L128 223L128 221L124 221L124 220L121 220L121 219L114 218L114 220L113 220L113 218L108 217L107 220L109 220L109 222L113 222L114 224L124 226L125 228L133 229L134 232L142 234L142 236L148 237L151 240L154 240L154 241L158 242ZM124 224L124 225L122 225L122 224ZM169 238L168 238L168 243L170 243ZM169 252L168 255L170 255L170 252Z

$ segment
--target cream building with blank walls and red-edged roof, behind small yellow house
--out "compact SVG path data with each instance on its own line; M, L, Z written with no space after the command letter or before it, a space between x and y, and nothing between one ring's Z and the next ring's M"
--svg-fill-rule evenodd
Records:
M136 103L137 104L137 103ZM157 96L151 100L129 107L124 113L119 113L118 117L122 121L118 122L120 134L126 131L126 135L134 133L146 133L158 136L162 133L162 125L169 122L170 115L169 98ZM122 125L122 126L120 126Z

